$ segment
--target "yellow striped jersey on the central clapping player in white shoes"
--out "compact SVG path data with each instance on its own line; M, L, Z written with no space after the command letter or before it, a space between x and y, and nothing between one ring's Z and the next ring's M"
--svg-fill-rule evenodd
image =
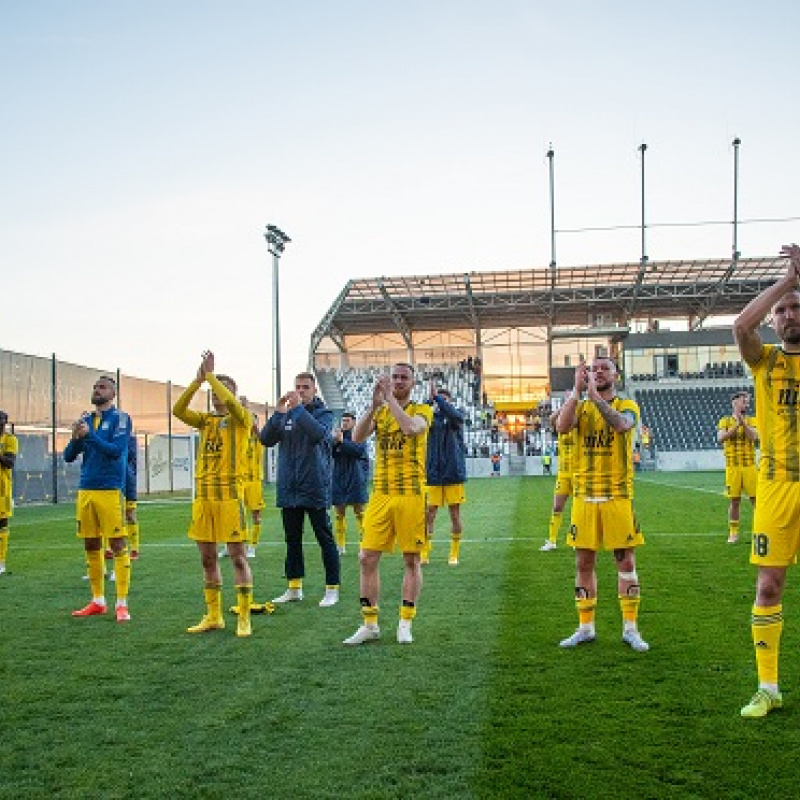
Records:
M375 412L375 472L373 491L381 494L421 495L425 493L425 454L433 410L427 403L408 403L403 411L422 417L425 430L407 436L400 430L388 405Z

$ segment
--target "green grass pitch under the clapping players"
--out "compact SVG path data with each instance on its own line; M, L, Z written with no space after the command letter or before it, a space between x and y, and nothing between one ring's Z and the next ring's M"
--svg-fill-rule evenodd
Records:
M752 798L797 795L800 599L790 573L785 707L739 708L755 689L743 535L726 543L722 473L644 475L636 509L640 628L620 641L612 556L600 555L598 641L576 626L573 556L539 552L549 477L471 481L458 567L440 512L415 641L394 638L401 559L382 562L380 642L359 624L357 546L342 601L321 609L310 531L306 599L254 617L250 639L186 634L203 612L186 502L140 503L132 621L73 619L88 601L73 508L18 508L0 578L1 798ZM284 588L268 497L257 600ZM234 601L223 564L226 607ZM113 596L113 588L108 593Z

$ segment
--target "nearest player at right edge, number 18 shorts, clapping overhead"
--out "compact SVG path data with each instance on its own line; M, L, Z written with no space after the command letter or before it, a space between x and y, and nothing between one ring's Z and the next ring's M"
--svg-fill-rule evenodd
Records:
M750 563L758 568L751 632L758 690L741 710L763 717L783 705L778 655L783 633L786 569L800 550L800 247L787 245L786 274L751 300L733 324L742 358L753 371L756 420L761 436L758 503ZM781 340L764 344L759 328L767 316Z

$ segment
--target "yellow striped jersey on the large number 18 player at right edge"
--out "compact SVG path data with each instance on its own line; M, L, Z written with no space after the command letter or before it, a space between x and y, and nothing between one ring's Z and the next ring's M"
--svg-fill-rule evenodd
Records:
M761 439L759 475L800 481L800 354L765 344L752 366Z

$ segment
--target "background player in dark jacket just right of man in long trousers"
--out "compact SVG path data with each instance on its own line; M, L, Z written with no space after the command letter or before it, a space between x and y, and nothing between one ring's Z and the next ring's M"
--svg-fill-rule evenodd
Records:
M367 504L367 476L369 456L367 446L353 441L356 415L351 411L342 414L341 427L333 431L333 532L336 546L343 555L347 545L347 507L352 506L358 524L358 538L364 532L364 507Z

